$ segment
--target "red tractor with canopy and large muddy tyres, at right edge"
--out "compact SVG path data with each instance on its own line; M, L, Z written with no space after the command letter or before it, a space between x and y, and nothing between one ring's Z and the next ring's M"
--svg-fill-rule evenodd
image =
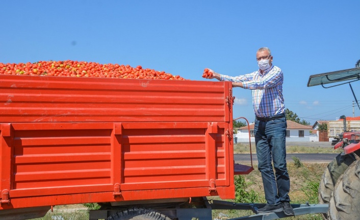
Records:
M330 88L348 83L360 109L350 84L358 80L360 60L355 68L312 75L307 86ZM345 124L346 117L343 119ZM327 165L319 185L319 203L329 204L327 214L323 214L324 219L360 219L360 131L346 131L345 128L339 135L340 141L334 146L335 149L344 149L344 152Z

